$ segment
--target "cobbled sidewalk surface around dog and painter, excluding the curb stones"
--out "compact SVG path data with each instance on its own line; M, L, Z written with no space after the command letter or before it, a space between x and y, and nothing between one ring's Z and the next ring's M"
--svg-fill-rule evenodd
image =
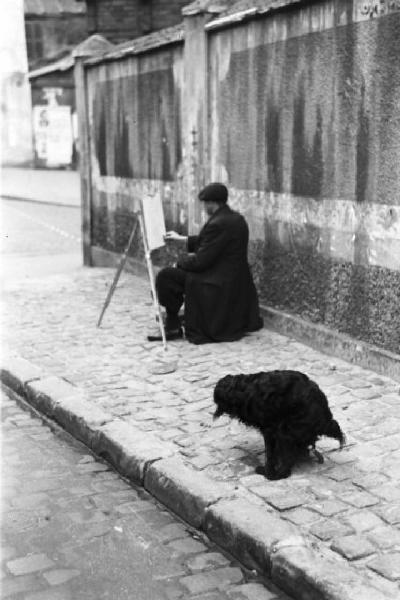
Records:
M145 279L125 273L96 328L113 274L92 269L15 284L3 298L10 348L83 387L107 412L173 442L188 465L231 482L237 495L326 544L366 579L374 574L382 590L398 590L400 384L266 329L235 343L173 342L176 371L154 375L162 350L145 341L152 320ZM348 445L339 451L324 439L317 446L324 464L306 462L270 482L254 473L261 436L227 418L213 422L212 390L227 373L279 368L317 381Z

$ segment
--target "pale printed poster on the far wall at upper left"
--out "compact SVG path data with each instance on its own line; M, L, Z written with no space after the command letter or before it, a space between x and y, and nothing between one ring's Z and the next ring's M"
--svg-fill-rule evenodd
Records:
M34 106L33 132L37 158L46 166L72 163L74 138L69 106Z

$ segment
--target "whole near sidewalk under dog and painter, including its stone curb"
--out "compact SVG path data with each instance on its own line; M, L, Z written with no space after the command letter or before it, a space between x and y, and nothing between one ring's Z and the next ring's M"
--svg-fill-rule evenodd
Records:
M15 284L3 297L2 379L246 566L301 600L400 597L400 384L264 329L235 343L169 344L175 372L146 341L146 279L114 271ZM16 357L23 357L22 361ZM38 368L39 369L38 369ZM347 434L271 482L256 475L259 434L212 421L227 373L299 369L326 392Z

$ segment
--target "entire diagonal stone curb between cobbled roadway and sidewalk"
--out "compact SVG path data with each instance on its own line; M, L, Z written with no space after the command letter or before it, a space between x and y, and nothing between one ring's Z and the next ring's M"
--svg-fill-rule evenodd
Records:
M246 567L267 576L297 600L395 600L370 585L334 552L298 535L296 528L265 507L235 493L231 484L211 481L177 455L173 444L144 433L89 403L83 390L47 376L20 357L4 359L1 382L22 395L123 476L138 483L179 517Z

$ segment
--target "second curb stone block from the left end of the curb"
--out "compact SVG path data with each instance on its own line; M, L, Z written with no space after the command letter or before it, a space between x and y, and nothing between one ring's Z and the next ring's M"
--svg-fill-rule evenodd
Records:
M83 397L83 390L65 379L50 375L25 385L25 395L30 404L45 415L54 418L54 409L63 398Z

